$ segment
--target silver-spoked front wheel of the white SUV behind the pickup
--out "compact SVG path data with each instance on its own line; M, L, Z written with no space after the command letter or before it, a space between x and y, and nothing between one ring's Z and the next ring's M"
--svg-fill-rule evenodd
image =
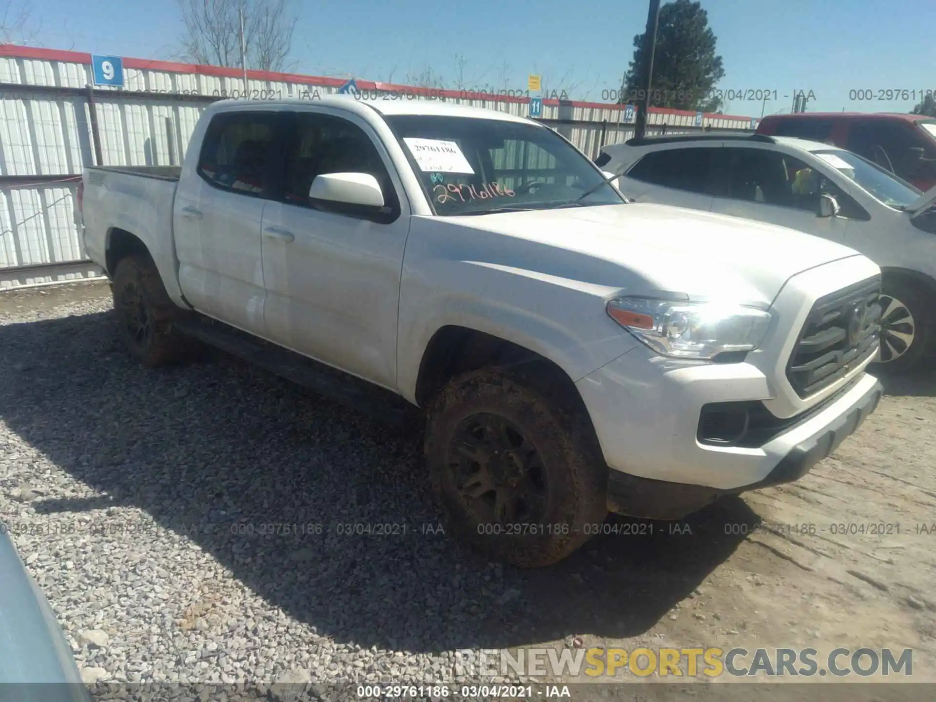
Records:
M884 281L881 292L881 351L875 367L886 373L913 370L926 355L932 325L927 291L905 278Z

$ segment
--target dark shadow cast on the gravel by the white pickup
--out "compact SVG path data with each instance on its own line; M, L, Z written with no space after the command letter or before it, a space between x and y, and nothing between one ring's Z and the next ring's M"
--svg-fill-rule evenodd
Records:
M519 571L441 533L416 433L225 357L140 368L110 314L0 327L0 348L8 429L97 492L51 484L38 513L119 521L122 506L139 507L337 642L429 652L637 636L738 547L726 524L759 520L737 498L679 523L612 517L618 534ZM140 549L125 534L92 538ZM181 548L172 541L144 550L158 563Z

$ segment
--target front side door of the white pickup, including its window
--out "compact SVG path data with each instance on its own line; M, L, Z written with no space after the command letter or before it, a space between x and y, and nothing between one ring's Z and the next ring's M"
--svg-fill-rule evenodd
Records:
M283 197L263 214L264 316L271 341L395 388L409 211L383 146L351 119L303 111L286 131ZM372 174L386 206L309 198L315 176L347 172Z

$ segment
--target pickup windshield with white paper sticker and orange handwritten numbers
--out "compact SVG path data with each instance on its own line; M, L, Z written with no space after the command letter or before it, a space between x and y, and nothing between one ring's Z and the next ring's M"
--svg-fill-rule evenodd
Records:
M602 184L601 171L546 127L435 115L394 115L387 122L436 214L624 202Z

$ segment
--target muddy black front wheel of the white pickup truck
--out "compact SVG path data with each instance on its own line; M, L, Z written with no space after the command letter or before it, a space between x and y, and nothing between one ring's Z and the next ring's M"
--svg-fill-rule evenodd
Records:
M426 433L446 531L521 568L588 541L607 517L607 466L583 414L503 369L450 382Z

